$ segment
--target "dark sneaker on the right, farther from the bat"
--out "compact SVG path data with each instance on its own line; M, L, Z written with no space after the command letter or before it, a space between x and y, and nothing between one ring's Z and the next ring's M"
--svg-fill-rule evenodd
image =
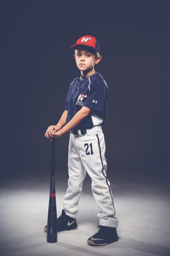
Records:
M116 228L97 226L98 233L88 238L87 243L92 245L108 245L118 241Z

